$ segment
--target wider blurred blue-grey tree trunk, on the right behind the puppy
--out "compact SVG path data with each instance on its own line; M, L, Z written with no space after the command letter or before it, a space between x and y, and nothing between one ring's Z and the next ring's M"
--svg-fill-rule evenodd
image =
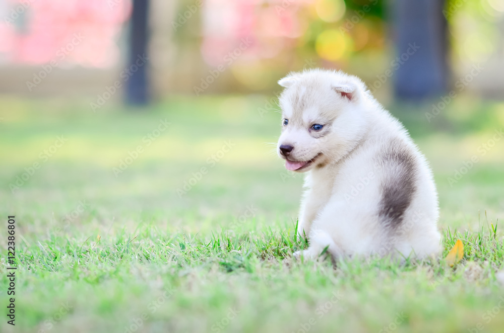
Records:
M448 45L444 5L444 0L396 0L393 5L396 56L400 59L394 91L399 99L439 97L446 90Z

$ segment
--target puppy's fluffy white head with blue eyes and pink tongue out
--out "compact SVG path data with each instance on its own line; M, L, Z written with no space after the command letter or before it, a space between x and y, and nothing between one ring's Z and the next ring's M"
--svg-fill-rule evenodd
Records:
M339 160L364 131L362 81L342 72L309 70L278 81L282 134L278 154L285 168L305 172Z

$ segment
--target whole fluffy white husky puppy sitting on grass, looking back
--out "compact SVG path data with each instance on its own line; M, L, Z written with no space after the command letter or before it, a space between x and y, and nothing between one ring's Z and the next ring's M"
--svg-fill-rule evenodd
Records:
M404 126L356 76L312 69L278 81L285 168L306 173L296 257L439 253L437 192Z

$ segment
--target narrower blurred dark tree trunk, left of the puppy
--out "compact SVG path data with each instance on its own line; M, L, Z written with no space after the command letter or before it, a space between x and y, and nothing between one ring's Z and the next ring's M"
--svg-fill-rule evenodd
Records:
M131 105L146 105L150 101L147 78L148 13L149 0L133 1L128 67L131 74L126 89L126 100Z

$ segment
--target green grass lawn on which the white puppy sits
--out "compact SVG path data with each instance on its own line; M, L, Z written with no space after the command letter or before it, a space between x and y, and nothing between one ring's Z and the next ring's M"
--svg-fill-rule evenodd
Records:
M3 313L8 215L16 215L18 270L16 326L2 315L0 331L501 332L504 140L484 156L477 148L504 127L504 107L460 101L430 123L428 105L393 108L434 170L443 258L464 243L450 268L442 258L337 267L293 260L306 246L294 236L302 178L266 144L278 137L279 115L259 115L263 97L179 98L96 114L79 103L2 98ZM147 147L142 138L165 118L171 125ZM68 141L11 193L57 135ZM219 158L226 140L234 146ZM138 145L144 152L115 177ZM474 154L480 161L450 186ZM202 167L207 173L180 198L177 189Z

